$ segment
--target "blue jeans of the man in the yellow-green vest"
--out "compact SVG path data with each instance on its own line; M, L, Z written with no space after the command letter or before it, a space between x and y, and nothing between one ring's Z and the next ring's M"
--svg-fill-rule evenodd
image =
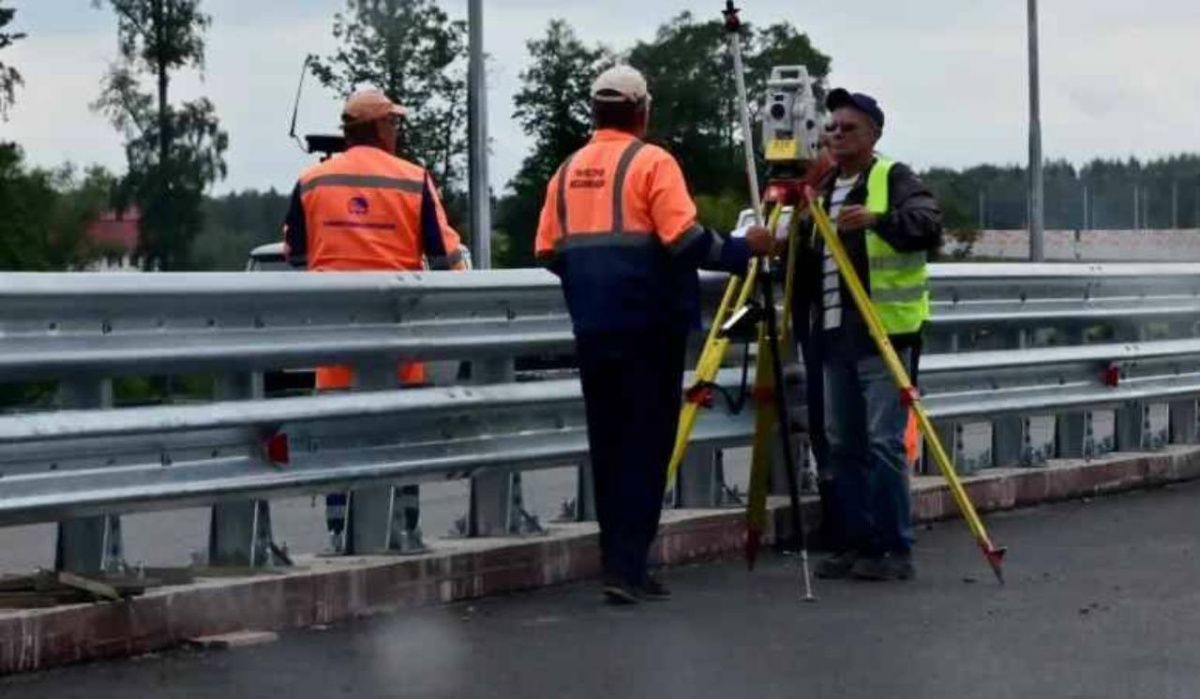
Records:
M912 351L900 352L906 365ZM864 555L912 549L912 494L904 434L908 410L878 356L826 358L826 426L845 540Z

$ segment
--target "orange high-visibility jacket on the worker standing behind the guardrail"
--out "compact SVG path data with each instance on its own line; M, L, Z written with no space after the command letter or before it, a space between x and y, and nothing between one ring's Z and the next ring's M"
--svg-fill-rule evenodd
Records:
M292 192L284 253L311 271L462 269L450 227L425 168L358 145L306 169ZM422 383L425 368L404 364L402 383ZM353 383L348 366L317 370L317 388Z

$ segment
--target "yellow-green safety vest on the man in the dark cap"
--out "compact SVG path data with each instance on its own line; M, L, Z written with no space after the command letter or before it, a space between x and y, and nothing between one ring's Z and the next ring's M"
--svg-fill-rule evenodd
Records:
M895 163L878 159L866 177L866 208L888 213L888 174ZM929 319L929 267L925 252L900 252L875 231L866 231L871 303L889 335L917 333Z

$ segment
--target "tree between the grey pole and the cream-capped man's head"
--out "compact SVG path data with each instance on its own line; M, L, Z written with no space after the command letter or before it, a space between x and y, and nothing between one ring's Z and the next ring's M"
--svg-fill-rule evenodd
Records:
M542 38L526 43L532 62L521 72L512 118L533 138L533 150L509 183L512 195L500 202L497 227L505 240L502 267L533 264L533 240L546 184L558 166L578 150L592 130L592 80L612 54L588 47L562 19Z

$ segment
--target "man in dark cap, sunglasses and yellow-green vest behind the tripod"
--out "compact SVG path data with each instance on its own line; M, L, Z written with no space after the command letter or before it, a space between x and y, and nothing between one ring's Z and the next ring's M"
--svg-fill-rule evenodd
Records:
M818 191L916 380L922 328L929 319L929 257L942 241L941 210L908 167L876 153L884 119L872 97L836 89L826 106L828 147L838 167ZM808 240L800 264L806 274L799 279L806 283L798 285L796 307L799 322L809 323L802 336L815 343L814 354L824 366L829 453L821 473L823 515L836 520L826 527L836 533L828 542L833 555L817 567L817 575L912 578L908 410L820 235Z

